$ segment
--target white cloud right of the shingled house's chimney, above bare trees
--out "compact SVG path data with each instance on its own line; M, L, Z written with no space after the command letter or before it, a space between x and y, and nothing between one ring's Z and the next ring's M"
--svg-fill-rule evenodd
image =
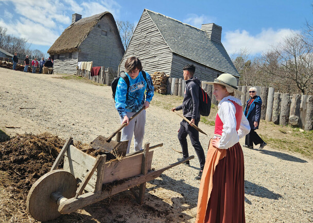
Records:
M223 45L229 54L239 52L240 49L247 49L251 55L265 52L291 33L299 33L298 30L279 29L273 30L263 29L256 35L251 35L246 30L235 30L225 32Z

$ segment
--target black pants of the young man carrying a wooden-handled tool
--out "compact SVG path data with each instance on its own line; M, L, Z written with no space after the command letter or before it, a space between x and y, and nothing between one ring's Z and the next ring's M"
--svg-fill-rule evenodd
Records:
M191 118L188 118L189 120ZM195 120L195 124L198 125L199 120ZM187 135L189 135L190 141L192 141L192 145L195 148L196 154L198 156L200 162L200 169L203 170L205 163L205 155L201 143L199 141L199 132L193 126L189 125L188 122L183 120L180 123L180 129L178 132L178 139L180 145L182 146L183 157L187 158L188 154L188 144L187 144Z

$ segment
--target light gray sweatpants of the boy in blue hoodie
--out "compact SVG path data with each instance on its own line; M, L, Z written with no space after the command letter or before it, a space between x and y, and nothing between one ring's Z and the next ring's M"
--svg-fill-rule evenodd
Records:
M135 113L127 112L127 117L130 118L132 117L133 114ZM119 117L119 119L120 123L123 122L123 118ZM143 149L145 124L146 124L146 110L143 110L133 120L131 120L127 126L121 129L120 141L129 140L126 154L129 153L129 148L133 135L135 151L140 151Z

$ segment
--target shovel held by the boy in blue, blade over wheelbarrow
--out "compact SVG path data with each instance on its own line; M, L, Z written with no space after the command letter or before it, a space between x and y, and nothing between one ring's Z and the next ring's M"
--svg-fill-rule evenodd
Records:
M142 112L142 110L145 109L145 106L143 106L138 112L136 112L132 117L129 118L129 121L131 121L133 118L135 118L139 113ZM121 124L121 126L112 133L108 138L104 136L98 136L94 141L91 142L91 146L95 150L103 150L106 153L110 153L114 148L119 148L120 150L125 150L125 147L127 148L128 141L124 142L116 142L112 141L112 138L121 131L122 128L124 128L127 125L127 123ZM126 152L125 152L126 153Z

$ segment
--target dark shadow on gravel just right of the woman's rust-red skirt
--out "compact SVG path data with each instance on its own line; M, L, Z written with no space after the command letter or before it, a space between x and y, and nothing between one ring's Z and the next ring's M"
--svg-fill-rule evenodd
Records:
M267 188L257 185L255 183L251 183L247 180L245 180L245 194L257 197L264 197L273 200L278 200L279 198L282 198L282 195L275 194L274 192L268 190Z

